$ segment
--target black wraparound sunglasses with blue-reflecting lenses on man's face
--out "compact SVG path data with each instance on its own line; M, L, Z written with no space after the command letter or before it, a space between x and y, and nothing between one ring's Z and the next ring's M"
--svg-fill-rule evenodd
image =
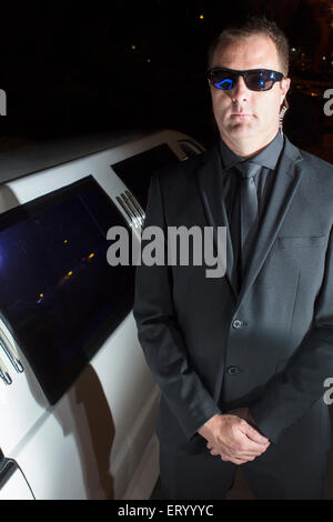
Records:
M208 79L216 89L229 91L236 87L239 78L243 77L245 86L251 91L269 91L275 81L284 78L282 72L271 71L270 69L249 69L248 71L236 71L223 67L213 67L208 70Z

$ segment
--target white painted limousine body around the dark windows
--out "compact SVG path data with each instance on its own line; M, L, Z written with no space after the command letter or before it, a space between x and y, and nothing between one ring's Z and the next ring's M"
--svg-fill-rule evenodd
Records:
M182 140L202 150L188 135L161 131L112 147L107 140L94 144L95 152L84 155L82 150L72 161L68 161L69 145L65 162L57 164L56 157L52 165L38 171L33 158L27 160L30 170L26 164L24 171L24 162L8 153L0 169L14 179L0 184L0 212L91 174L123 213L117 197L127 187L110 165L161 143L184 160ZM140 232L124 217L139 242ZM24 372L17 373L0 348L12 379L10 385L0 381L0 448L20 466L0 489L0 499L31 498L31 491L36 499L46 500L149 499L159 476L154 435L159 390L145 364L132 312L53 406L9 330L3 323L0 329L24 367Z

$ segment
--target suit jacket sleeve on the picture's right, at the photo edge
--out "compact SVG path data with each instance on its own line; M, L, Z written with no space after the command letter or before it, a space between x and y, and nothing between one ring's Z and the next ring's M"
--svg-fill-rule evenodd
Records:
M261 399L250 408L258 428L273 442L294 424L325 392L333 377L333 232L329 238L325 272L315 301L311 330L284 371L269 382Z

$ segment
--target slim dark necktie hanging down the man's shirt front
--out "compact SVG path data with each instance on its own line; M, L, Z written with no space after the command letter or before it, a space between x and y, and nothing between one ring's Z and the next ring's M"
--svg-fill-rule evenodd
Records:
M240 218L241 218L241 267L242 274L250 253L253 239L258 231L259 213L258 213L258 195L254 177L261 169L261 165L251 161L244 161L236 165L241 172L240 177Z

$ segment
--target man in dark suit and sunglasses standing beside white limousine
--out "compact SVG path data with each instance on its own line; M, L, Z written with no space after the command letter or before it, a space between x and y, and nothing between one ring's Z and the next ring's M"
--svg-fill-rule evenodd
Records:
M208 278L205 262L137 269L169 499L224 499L238 465L259 499L323 496L333 169L282 133L287 64L275 23L224 30L209 71L221 140L151 180L145 228L212 227L216 245L226 227L224 277Z

